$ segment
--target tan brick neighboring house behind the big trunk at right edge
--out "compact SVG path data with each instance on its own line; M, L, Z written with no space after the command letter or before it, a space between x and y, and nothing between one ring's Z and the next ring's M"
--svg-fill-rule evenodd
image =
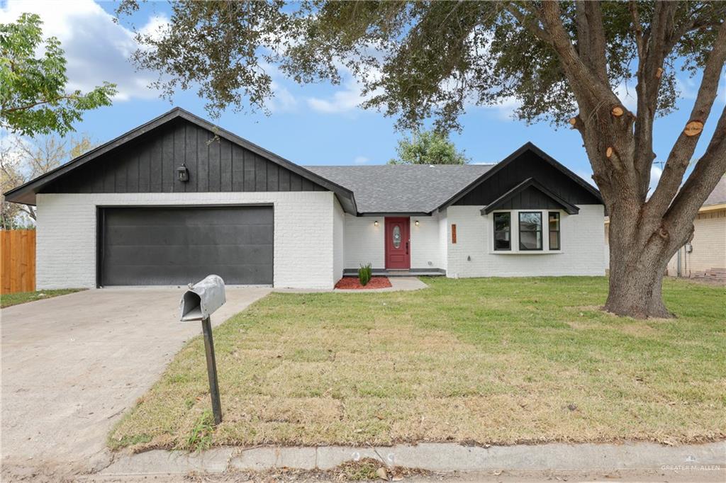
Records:
M696 220L693 239L668 263L668 275L726 278L726 178L711 192Z

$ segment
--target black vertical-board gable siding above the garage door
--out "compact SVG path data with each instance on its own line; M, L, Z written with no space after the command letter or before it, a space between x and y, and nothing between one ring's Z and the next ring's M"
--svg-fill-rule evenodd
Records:
M181 164L189 181L176 179ZM162 125L60 178L43 193L327 191L297 173L185 120Z

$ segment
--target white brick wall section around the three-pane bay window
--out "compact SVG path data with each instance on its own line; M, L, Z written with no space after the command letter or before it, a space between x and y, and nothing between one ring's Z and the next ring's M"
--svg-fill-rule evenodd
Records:
M450 206L446 210L449 277L563 276L605 274L603 205L581 205L577 215L560 212L562 249L548 250L547 211L543 212L544 249L518 252L518 210L512 210L511 252L494 252L493 217L481 215L483 206ZM452 243L451 226L457 226Z

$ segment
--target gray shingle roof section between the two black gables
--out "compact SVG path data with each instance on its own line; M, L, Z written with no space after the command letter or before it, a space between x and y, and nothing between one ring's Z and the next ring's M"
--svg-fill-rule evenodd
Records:
M305 166L353 191L358 211L431 212L494 165Z

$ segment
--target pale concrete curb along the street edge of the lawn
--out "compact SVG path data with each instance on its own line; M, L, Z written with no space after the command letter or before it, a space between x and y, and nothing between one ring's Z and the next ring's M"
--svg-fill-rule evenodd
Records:
M221 447L201 453L152 450L117 456L101 475L221 473L228 469L335 468L374 458L388 466L430 471L643 470L724 471L726 442L662 446L654 443L462 446L422 443L391 447Z

